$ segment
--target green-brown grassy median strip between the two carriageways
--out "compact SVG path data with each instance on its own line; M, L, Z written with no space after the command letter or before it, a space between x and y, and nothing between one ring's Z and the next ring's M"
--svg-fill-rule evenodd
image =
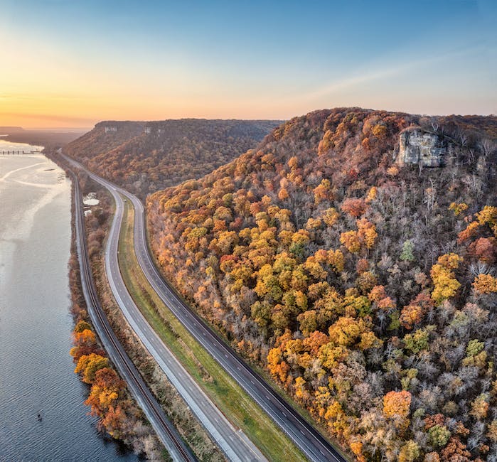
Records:
M237 428L242 429L264 456L271 461L305 461L299 448L186 331L151 288L134 253L133 224L134 209L126 200L119 236L119 267L141 313L205 394Z

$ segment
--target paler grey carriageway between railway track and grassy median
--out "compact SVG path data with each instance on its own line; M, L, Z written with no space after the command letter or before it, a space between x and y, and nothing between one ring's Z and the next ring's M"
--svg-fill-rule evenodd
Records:
M73 161L73 159L66 156L64 158L72 163L73 166L83 168L79 163ZM134 332L137 333L146 349L149 350L149 353L156 360L159 367L164 371L171 384L176 387L176 390L178 390L181 397L183 397L191 408L193 414L201 421L228 459L234 462L266 461L266 458L264 458L257 446L252 444L252 441L240 429L235 429L223 413L215 407L215 404L210 401L195 380L188 374L181 363L178 362L171 350L162 342L159 335L151 328L134 303L132 296L124 284L118 263L119 232L124 213L124 202L119 194L122 190L90 171L86 172L90 178L109 190L116 203L114 219L112 220L112 226L105 246L105 272L114 298L119 308L121 308L124 317Z

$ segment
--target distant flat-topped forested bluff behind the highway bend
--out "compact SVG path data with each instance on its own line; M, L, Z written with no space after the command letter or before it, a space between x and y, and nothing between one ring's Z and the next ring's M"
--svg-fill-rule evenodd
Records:
M232 161L280 123L205 119L100 122L65 150L92 171L144 198Z

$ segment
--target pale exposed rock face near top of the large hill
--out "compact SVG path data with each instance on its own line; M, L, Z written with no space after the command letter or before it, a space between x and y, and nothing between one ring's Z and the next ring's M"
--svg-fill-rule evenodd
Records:
M441 167L447 156L447 143L436 134L420 128L405 129L399 136L397 163L416 163L422 167Z

